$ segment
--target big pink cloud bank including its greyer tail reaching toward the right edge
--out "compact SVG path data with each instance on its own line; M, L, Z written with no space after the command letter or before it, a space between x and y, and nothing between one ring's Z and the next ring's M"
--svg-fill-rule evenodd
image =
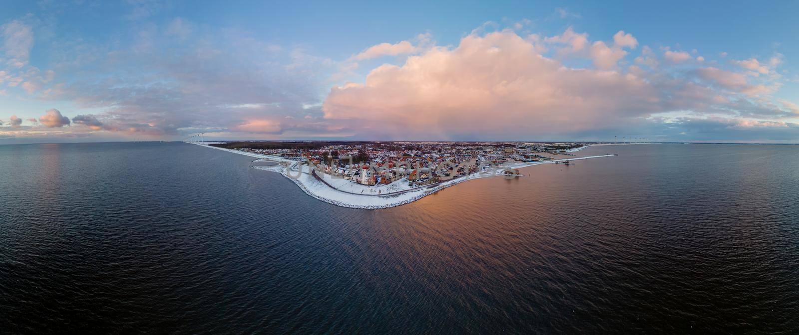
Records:
M675 136L668 130L675 124L658 116L664 112L690 111L697 119L789 115L785 104L750 101L758 86L740 73L702 68L686 77L636 66L622 72L616 66L626 51L602 41L586 55L593 68L570 68L533 43L509 30L472 34L403 65L380 65L363 83L333 87L324 118L343 120L366 138L491 140L629 132L623 129ZM620 44L634 45L626 37Z

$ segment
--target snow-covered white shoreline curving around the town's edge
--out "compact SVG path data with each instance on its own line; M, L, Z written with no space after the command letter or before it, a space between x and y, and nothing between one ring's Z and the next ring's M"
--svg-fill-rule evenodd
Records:
M325 203L331 203L333 205L339 207L348 207L348 208L358 208L358 209L381 209L381 208L390 208L390 207L397 207L402 206L407 203L412 203L416 200L422 199L427 195L431 195L437 191L441 191L444 188L455 186L459 183L463 183L467 180L472 179L480 179L480 178L488 178L488 177L495 177L500 176L502 173L495 172L483 172L481 175L480 172L472 173L471 175L464 175L463 177L457 179L447 180L445 182L441 182L435 185L428 185L424 187L418 187L418 189L411 189L401 192L395 192L394 194L387 194L387 195L380 195L375 194L374 190L375 187L368 188L362 187L362 194L356 194L350 191L342 191L336 188L333 188L328 183L325 183L321 179L331 179L329 175L322 174L321 177L316 175L312 175L307 171L298 171L298 163L297 160L288 160L280 156L271 156L271 155L263 155L257 154L253 152L241 152L238 150L233 149L226 149L226 148L217 148L212 147L208 144L213 143L198 143L198 142L185 142L187 144L196 144L203 146L205 148L213 148L217 150L222 150L226 152L232 152L239 155L250 156L256 158L257 160L253 160L256 162L258 160L270 160L274 161L277 164L273 166L250 166L257 170L264 170L264 171L272 171L280 173L284 177L292 180L297 187L300 187L300 190L304 191L305 194L312 196L314 199L324 201ZM593 145L601 145L601 144L589 144L585 147L576 148L574 152L581 151L582 149L588 148ZM629 145L629 144L604 144L604 145ZM598 155L598 156L584 156L584 157L570 157L564 158L561 160L547 160L542 162L527 162L527 163L516 163L516 164L501 164L500 167L507 167L510 169L519 169L522 167L531 167L534 165L539 164L555 164L557 162L562 162L566 160L589 160L594 158L602 158L602 157L611 157L616 156L615 154L606 154L606 155ZM304 168L303 168L304 170ZM289 176L291 174L292 176ZM372 193L363 194L364 191L370 191Z

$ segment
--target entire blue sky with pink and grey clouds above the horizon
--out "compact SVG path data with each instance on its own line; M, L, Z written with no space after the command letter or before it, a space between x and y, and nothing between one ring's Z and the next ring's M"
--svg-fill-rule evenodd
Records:
M0 144L799 143L795 1L0 2Z

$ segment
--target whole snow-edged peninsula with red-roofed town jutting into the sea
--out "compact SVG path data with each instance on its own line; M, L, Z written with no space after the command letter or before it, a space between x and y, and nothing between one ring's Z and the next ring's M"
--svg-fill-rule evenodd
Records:
M522 167L610 157L581 156L614 143L532 142L205 142L251 156L252 168L274 171L312 197L341 207L378 209L411 203L471 179L518 178ZM272 162L272 164L264 163Z

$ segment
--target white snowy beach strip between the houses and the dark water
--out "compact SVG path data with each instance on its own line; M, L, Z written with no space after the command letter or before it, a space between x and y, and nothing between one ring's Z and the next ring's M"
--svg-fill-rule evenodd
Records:
M239 155L251 156L256 158L254 161L273 161L278 164L272 166L251 166L264 171L274 171L284 175L292 180L301 190L312 197L324 201L325 203L332 203L340 207L362 208L362 209L379 209L396 207L405 203L411 203L415 200L421 199L426 195L431 195L436 191L443 190L444 188L451 187L457 183L462 183L471 179L479 179L486 177L493 177L504 175L508 170L516 170L521 167L530 167L539 164L556 164L572 160L588 160L592 158L610 157L615 156L612 154L599 155L599 156L584 156L584 157L570 157L561 160L546 160L540 162L527 162L515 164L501 164L498 169L487 170L483 172L475 172L471 175L464 175L459 178L447 180L441 183L435 183L423 187L409 188L402 183L392 183L388 185L377 186L364 186L357 183L352 183L348 180L333 178L331 175L324 173L316 173L306 164L301 164L298 160L288 160L280 156L269 156L257 154L254 152L242 152L233 149L217 148L210 146L210 142L186 142L189 144L201 145L205 148L213 148L217 150L224 150L233 152ZM587 147L587 146L586 146ZM582 150L578 148L574 151Z

